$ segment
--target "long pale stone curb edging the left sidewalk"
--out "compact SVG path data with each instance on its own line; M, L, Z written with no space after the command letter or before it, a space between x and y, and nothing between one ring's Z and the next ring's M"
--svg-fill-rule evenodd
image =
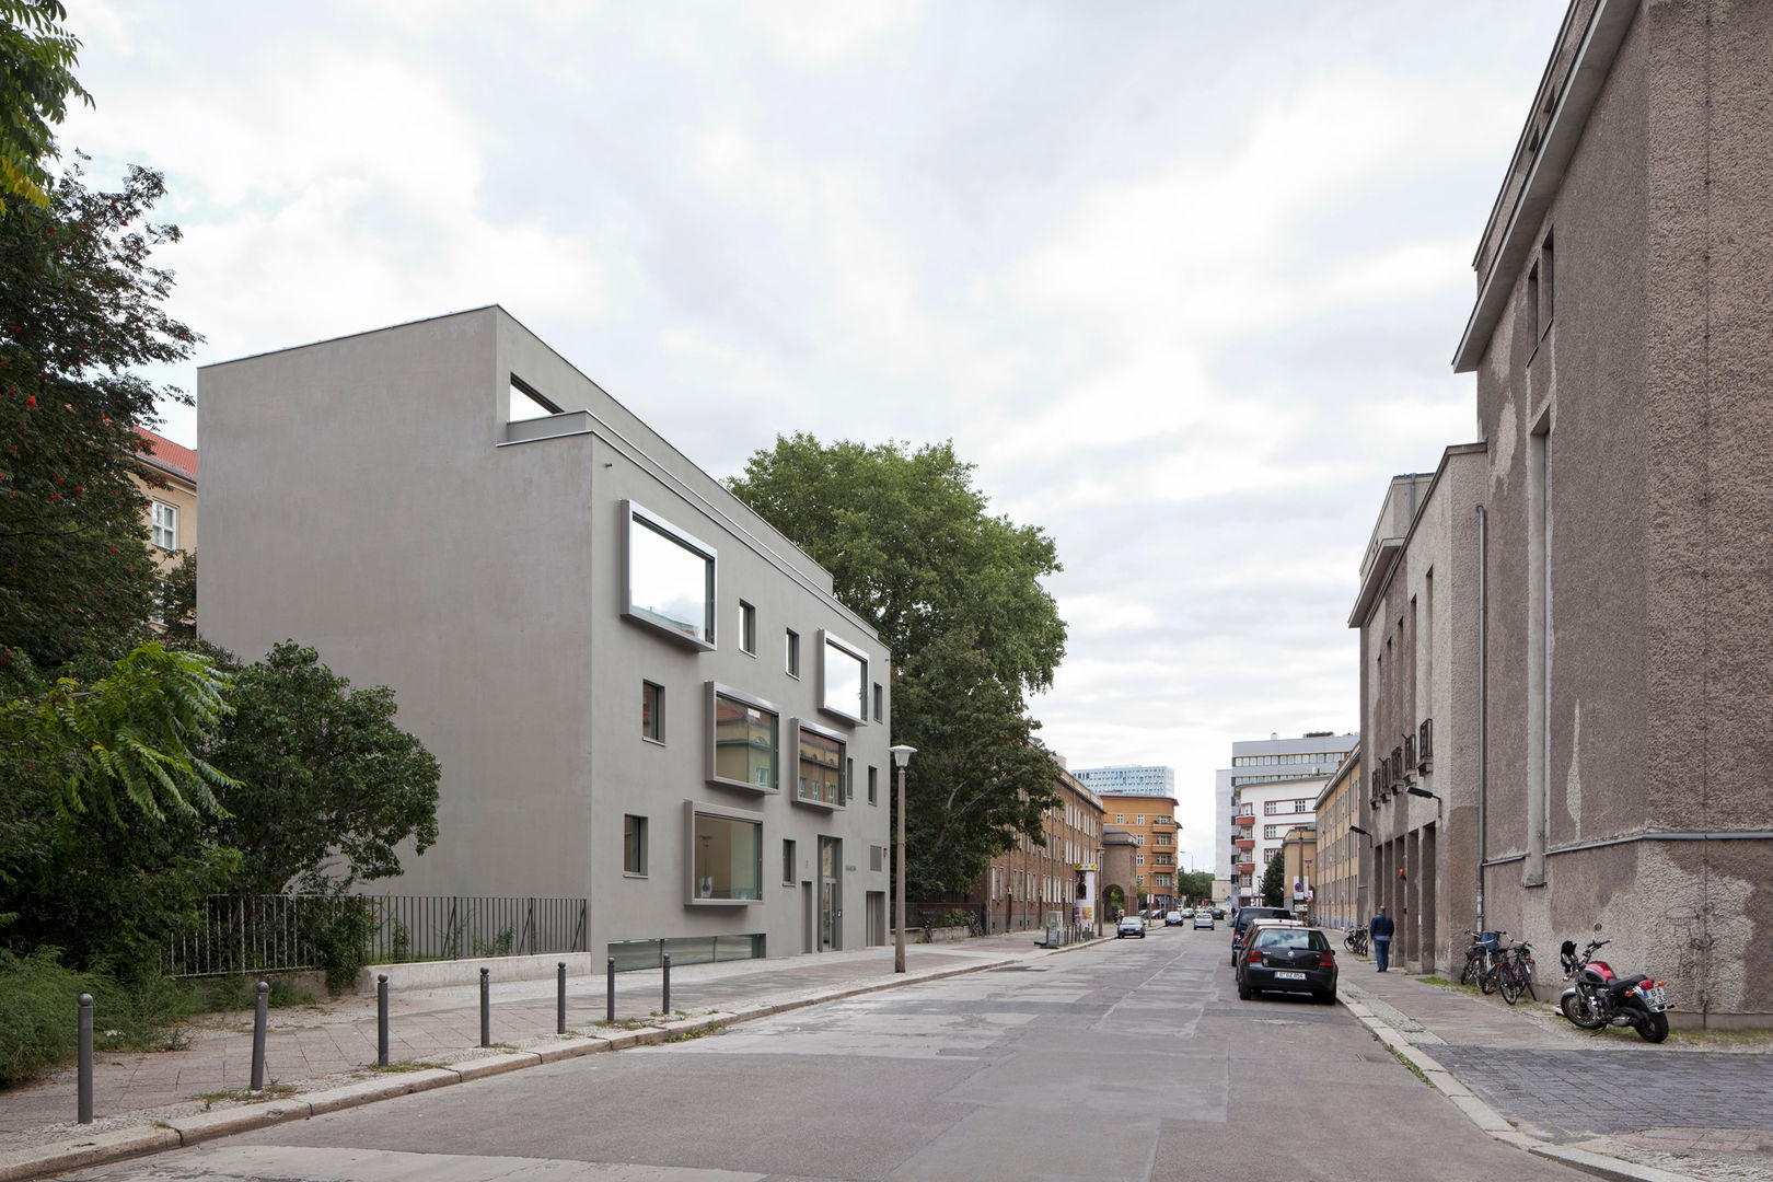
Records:
M1069 945L1066 948L1050 950L1048 955L1057 955L1058 952L1071 952L1074 948L1087 948L1090 946L1090 943L1099 943L1099 941L1089 941L1080 945ZM777 1014L787 1014L789 1010L803 1010L814 1005L844 1001L846 998L860 998L863 994L883 992L888 989L901 989L904 985L922 985L924 982L945 980L949 976L986 973L989 969L998 969L1009 964L1021 964L1021 960L1023 959L984 960L980 964L968 964L957 969L941 969L941 971L929 971L917 975L908 973L904 980L888 980L874 985L862 985L856 989L837 989L832 992L812 994L807 998L793 998L789 1001L778 1001L773 1005L761 1005L748 1010L716 1012L693 1019L661 1023L658 1026L647 1026L644 1030L635 1030L613 1037L582 1037L535 1051L505 1051L500 1054L488 1054L480 1058L463 1060L450 1067L433 1067L426 1070L402 1072L390 1077L363 1079L358 1083L344 1085L340 1088L330 1088L326 1092L309 1092L298 1097L277 1099L264 1104L252 1104L245 1108L227 1108L222 1111L199 1113L195 1116L176 1116L172 1120L163 1120L151 1125L138 1125L135 1129L113 1129L110 1132L96 1132L90 1138L83 1138L80 1141L57 1141L51 1145L37 1145L32 1148L12 1150L7 1154L0 1154L0 1182L25 1182L27 1178L39 1178L50 1173L60 1173L64 1170L105 1166L129 1157L142 1157L145 1154L161 1154L165 1150L200 1145L202 1141L211 1141L215 1138L229 1136L234 1132L250 1132L254 1129L264 1129L268 1125L285 1124L291 1120L309 1120L312 1116L323 1116L326 1113L335 1113L346 1108L358 1108L360 1104L374 1104L376 1100L392 1100L395 1097L411 1095L415 1092L429 1092L433 1088L447 1088L457 1083L470 1083L473 1079L502 1076L505 1072L523 1070L525 1067L541 1067L543 1063L555 1063L567 1058L578 1058L582 1054L594 1054L598 1051L621 1051L635 1046L665 1044L681 1038L686 1033L690 1035L713 1033L715 1030L736 1023L748 1023L761 1017L773 1017Z

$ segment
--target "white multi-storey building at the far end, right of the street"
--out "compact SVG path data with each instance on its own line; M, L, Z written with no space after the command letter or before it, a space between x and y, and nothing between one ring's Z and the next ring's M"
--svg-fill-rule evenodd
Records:
M1257 897L1262 868L1287 831L1316 824L1317 794L1342 760L1360 746L1358 734L1310 732L1298 739L1248 739L1230 744L1230 767L1213 785L1218 849L1227 852L1232 902Z

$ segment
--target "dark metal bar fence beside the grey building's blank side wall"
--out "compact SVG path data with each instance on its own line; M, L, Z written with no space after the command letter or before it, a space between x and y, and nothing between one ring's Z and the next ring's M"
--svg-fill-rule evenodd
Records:
M482 895L250 895L204 900L172 937L174 976L324 968L323 948L362 939L371 964L587 950L585 898Z

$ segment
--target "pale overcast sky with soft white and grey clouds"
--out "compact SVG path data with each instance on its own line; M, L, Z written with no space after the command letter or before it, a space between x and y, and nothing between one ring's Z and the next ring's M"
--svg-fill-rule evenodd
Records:
M1234 739L1358 721L1360 556L1473 434L1449 358L1564 12L69 7L62 144L167 174L200 363L502 303L716 477L954 439L1066 567L1043 737L1175 767L1197 865Z

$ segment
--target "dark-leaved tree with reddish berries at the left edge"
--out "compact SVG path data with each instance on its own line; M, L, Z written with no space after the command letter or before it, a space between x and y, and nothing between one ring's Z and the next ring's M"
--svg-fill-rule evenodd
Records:
M73 168L50 209L0 218L0 656L37 668L121 654L152 608L135 427L188 399L133 370L197 340L165 314L172 273L149 264L179 237L145 220L163 191L145 168L113 193Z

